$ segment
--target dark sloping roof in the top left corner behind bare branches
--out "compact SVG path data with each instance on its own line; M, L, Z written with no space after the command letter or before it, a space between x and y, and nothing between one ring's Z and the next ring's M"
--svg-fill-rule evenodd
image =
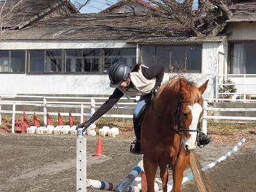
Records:
M45 13L51 13L54 8L62 4L66 4L71 13L78 12L67 0L0 1L0 9L3 10L1 16L5 21L2 27L20 29L30 22L39 19Z

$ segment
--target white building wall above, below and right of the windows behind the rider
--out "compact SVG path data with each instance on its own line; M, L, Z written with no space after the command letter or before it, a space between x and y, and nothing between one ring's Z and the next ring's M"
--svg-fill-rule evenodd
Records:
M61 41L61 40L15 40L0 42L0 49L84 49L84 48L124 48L136 47L118 40L102 41ZM223 45L204 43L202 49L202 73L188 73L186 77L198 86L209 79L204 97L214 97L214 78L218 73L218 52ZM170 74L172 76L172 74ZM54 94L54 95L109 95L108 74L1 74L0 94Z

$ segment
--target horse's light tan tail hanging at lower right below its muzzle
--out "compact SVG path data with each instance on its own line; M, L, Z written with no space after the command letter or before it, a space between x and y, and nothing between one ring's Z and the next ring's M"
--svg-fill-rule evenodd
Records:
M199 157L195 152L190 153L189 166L193 172L196 186L200 192L214 191L209 174L205 172ZM206 187L205 187L206 186Z

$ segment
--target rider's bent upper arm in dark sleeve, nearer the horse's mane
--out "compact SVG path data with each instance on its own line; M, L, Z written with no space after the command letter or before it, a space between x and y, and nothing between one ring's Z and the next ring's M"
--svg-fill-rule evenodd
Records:
M141 72L147 79L153 79L156 77L156 86L161 86L164 76L164 65L157 64L150 67L141 67Z

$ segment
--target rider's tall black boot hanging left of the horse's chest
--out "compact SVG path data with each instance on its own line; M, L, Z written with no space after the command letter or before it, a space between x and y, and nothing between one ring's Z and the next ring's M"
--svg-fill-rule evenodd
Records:
M136 136L136 140L131 143L130 152L131 154L141 154L140 149L140 125L139 120L133 119L133 127L134 127L134 134Z

